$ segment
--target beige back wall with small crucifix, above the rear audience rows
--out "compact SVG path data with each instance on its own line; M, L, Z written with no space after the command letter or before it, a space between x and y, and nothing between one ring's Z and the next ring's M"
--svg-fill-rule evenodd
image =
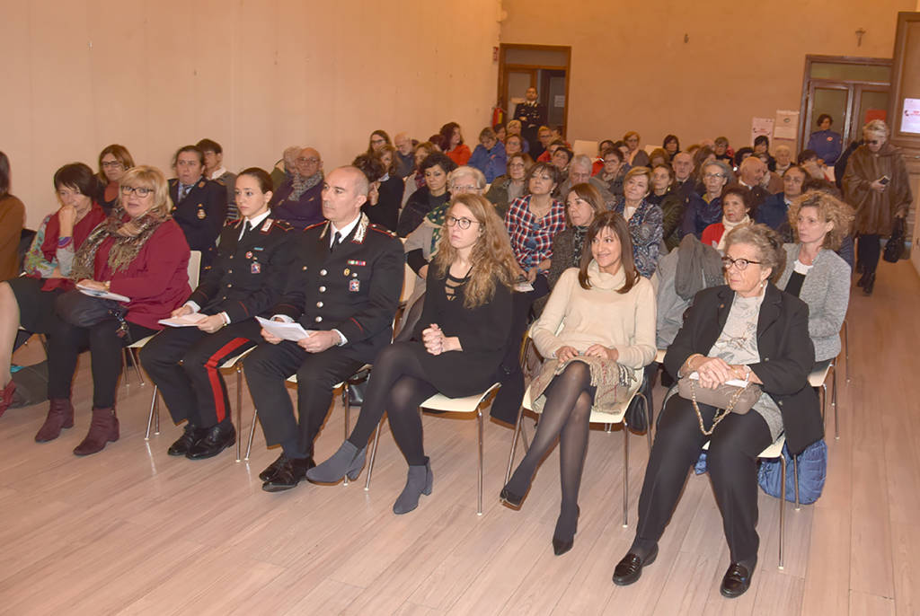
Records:
M916 4L502 0L501 42L571 46L569 141L724 134L737 149L752 117L799 109L806 54L891 58L897 13Z

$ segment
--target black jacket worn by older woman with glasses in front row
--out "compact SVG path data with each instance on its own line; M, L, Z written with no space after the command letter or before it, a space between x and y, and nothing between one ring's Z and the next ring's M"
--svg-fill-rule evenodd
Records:
M757 349L760 362L751 370L764 382L764 391L776 401L783 415L783 428L789 451L804 451L824 436L818 395L809 386L808 375L814 365L814 347L808 333L808 304L766 287L757 322ZM728 286L712 287L696 293L687 311L684 326L664 356L664 366L677 374L694 353L708 355L729 317L734 291Z

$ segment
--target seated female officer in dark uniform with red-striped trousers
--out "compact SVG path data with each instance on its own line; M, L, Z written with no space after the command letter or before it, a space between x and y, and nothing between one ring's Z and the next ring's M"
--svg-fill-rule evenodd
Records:
M241 219L227 222L213 267L173 317L201 314L194 326L167 327L143 349L141 363L169 414L185 431L167 451L210 458L236 441L224 378L218 367L261 341L254 318L269 316L284 289L297 235L270 217L271 177L251 167L236 177Z

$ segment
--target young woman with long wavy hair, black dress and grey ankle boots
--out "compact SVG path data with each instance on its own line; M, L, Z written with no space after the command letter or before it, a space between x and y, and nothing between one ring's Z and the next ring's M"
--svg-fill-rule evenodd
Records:
M495 209L478 195L457 195L444 221L437 256L414 340L385 348L374 361L361 416L331 458L310 469L316 483L356 479L367 441L386 412L393 438L408 462L408 479L393 506L408 513L431 494L419 405L433 394L477 394L500 380L512 325L512 284L518 271Z

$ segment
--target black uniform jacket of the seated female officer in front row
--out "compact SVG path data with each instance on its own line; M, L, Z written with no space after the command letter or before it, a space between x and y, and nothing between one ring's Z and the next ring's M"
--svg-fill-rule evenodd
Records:
M297 239L290 224L268 217L238 242L243 222L226 223L217 257L189 297L202 313L225 312L231 323L270 314L284 291Z

